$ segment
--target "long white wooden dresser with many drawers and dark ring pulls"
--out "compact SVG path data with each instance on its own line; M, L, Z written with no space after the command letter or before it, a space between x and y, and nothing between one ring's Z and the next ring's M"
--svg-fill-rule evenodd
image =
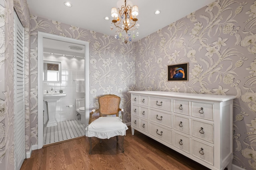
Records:
M231 170L236 96L130 91L131 129L212 169Z

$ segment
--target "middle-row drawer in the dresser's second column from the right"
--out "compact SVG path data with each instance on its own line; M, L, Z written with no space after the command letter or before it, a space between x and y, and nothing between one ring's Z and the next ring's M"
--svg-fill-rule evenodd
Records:
M189 134L189 118L174 115L174 129Z

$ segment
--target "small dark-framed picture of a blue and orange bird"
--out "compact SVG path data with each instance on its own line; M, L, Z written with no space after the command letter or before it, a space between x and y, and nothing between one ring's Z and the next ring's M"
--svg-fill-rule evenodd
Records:
M188 63L168 65L168 81L188 81Z

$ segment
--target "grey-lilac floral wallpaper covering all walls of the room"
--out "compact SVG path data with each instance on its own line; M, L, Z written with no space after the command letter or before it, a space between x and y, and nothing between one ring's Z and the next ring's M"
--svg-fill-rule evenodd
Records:
M102 94L122 98L130 122L130 90L234 95L234 160L256 170L256 0L216 0L133 43L30 16L26 0L0 0L0 166L14 169L13 18L25 27L26 151L37 145L37 32L90 43L90 109ZM189 63L187 82L167 81L167 66Z

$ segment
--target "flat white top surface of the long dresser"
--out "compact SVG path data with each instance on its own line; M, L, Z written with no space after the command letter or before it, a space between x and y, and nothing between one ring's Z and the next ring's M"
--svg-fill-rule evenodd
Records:
M225 102L225 101L233 100L236 98L236 96L231 96L231 95L196 94L196 93L163 92L163 91L130 91L129 93L138 94L138 95L154 95L154 96L176 97L176 98L186 98L186 99L211 100L216 102Z

